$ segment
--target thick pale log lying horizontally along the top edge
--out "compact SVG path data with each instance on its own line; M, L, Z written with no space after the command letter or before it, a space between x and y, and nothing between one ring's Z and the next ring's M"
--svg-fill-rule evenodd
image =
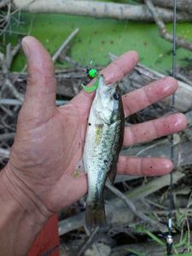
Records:
M96 18L112 18L118 20L146 20L154 21L153 15L144 4L131 5L123 3L104 3L95 1L73 0L13 0L15 9L21 9L32 13L60 13L66 15L83 15ZM172 11L157 9L160 18L164 21L172 21ZM192 16L179 13L177 20L192 20Z

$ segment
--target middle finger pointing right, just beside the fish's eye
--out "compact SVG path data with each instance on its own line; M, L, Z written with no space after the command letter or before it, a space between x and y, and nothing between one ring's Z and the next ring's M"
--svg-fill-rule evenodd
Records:
M177 90L177 80L172 77L166 77L151 84L144 86L138 90L122 96L124 104L125 117L131 113L148 107L154 102L158 102L166 96L172 95Z

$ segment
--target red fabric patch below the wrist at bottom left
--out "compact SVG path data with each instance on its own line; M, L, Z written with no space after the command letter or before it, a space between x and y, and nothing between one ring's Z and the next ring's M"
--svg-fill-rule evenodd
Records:
M54 214L38 234L27 256L59 256L58 218Z

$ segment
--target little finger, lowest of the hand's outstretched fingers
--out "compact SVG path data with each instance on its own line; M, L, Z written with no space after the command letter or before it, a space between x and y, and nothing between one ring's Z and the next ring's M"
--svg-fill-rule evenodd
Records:
M158 176L172 171L172 161L164 158L119 156L118 173L127 175Z

